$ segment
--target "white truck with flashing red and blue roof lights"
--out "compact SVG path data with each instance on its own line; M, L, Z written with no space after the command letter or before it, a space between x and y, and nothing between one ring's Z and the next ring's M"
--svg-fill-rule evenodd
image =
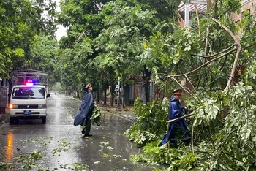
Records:
M45 124L47 116L47 98L50 97L50 94L48 94L47 84L42 85L41 83L40 85L38 80L42 80L43 74L47 76L46 83L48 83L48 74L34 70L18 72L18 74L16 74L18 75L17 80L25 76L25 78L29 77L30 80L28 81L28 79L24 78L24 81L20 83L16 82L16 85L12 86L12 91L9 94L10 100L8 107L10 123L15 123L15 121L20 118L40 118L42 119L42 123ZM31 75L33 75L33 77ZM35 78L37 78L37 80Z

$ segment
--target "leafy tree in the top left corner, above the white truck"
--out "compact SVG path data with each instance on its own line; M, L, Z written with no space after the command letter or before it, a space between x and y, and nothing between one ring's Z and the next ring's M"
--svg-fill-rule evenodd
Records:
M0 2L0 77L10 77L13 69L31 69L36 36L54 37L55 8L52 1Z

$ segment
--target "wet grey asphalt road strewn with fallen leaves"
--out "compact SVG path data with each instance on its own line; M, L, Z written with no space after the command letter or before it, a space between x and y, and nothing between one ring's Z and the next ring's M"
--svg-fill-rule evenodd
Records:
M51 94L46 124L20 120L0 126L0 170L154 169L130 161L130 154L140 153L123 135L132 121L102 110L101 126L91 126L94 136L83 137L80 126L73 126L79 105L78 99Z

